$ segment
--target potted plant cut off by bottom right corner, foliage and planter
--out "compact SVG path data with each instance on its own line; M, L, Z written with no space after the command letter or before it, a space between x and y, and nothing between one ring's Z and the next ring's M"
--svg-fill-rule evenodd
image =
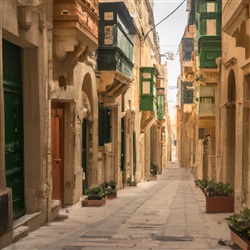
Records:
M243 250L250 250L250 209L245 208L226 218L231 240Z

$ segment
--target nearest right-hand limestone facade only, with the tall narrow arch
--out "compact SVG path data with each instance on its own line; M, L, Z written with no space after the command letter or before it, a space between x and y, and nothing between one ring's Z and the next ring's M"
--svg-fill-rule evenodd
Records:
M222 1L217 172L235 189L235 209L250 206L250 2Z

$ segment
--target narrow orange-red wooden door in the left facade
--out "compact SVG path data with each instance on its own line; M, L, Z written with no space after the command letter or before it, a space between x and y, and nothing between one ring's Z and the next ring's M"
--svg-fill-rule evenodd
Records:
M63 111L63 108L52 108L51 111L52 199L60 200L61 206L63 206L64 182Z

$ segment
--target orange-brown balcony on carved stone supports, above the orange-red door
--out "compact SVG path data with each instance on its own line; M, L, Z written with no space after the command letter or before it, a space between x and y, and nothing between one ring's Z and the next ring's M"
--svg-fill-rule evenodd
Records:
M88 54L98 46L98 1L55 0L54 40L58 59L83 44Z

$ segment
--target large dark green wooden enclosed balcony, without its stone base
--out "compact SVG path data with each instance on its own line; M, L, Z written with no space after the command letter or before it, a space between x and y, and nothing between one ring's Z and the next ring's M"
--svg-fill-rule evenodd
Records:
M99 3L98 70L132 78L135 24L123 2Z

